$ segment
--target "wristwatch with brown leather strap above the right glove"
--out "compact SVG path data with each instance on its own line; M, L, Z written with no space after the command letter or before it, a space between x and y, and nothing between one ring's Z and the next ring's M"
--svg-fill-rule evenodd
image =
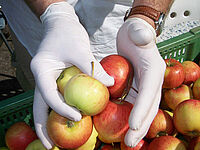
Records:
M124 21L135 14L141 14L151 18L155 23L155 31L157 36L161 34L165 19L165 14L163 12L157 11L156 9L149 6L140 5L128 9L125 14Z

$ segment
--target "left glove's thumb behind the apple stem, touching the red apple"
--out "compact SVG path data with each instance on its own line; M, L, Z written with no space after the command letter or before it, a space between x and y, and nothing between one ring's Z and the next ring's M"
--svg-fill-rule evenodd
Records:
M82 72L93 76L95 79L102 82L105 86L108 87L114 85L114 78L106 73L101 64L94 58L92 54L90 54L89 59L85 59L82 62L75 62L75 65Z

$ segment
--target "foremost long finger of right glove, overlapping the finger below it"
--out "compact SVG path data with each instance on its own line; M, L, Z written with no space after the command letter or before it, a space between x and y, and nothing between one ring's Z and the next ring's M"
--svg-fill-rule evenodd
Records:
M144 71L139 80L139 90L129 117L129 126L131 129L138 130L146 116L148 115L154 101L160 101L160 97L156 99L157 93L161 94L161 86L163 76L154 69ZM161 96L161 95L160 95Z

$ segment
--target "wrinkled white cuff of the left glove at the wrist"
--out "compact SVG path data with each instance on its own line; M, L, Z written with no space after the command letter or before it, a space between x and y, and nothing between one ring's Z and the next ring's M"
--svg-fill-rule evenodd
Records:
M44 13L40 16L40 20L44 23L49 18L58 18L58 16L71 17L78 20L74 8L67 2L57 2L50 4Z

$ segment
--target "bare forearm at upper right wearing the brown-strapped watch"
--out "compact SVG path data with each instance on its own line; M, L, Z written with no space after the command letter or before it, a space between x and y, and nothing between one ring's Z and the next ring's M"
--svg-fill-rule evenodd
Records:
M163 12L164 14L167 14L172 3L174 0L134 0L133 2L133 7L136 6L149 6L154 8L157 11ZM142 18L144 20L146 20L149 24L151 24L154 28L155 28L155 24L154 21L152 19L150 19L149 17L146 17L144 15L133 15L130 17L139 17Z

